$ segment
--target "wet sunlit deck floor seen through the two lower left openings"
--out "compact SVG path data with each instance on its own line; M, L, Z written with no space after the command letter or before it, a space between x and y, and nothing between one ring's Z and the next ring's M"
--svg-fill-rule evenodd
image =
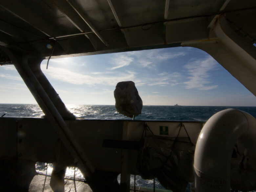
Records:
M50 180L51 180L51 177L47 176L45 187L44 187L45 176L44 175L34 176L29 186L29 192L53 192L50 186ZM43 190L43 187L44 187L44 190ZM87 185L82 181L75 181L75 184L74 184L73 180L65 179L65 192L92 192L92 189L89 187L89 185Z

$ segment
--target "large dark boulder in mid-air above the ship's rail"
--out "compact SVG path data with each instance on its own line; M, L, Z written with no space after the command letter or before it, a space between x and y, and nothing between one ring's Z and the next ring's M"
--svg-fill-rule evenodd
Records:
M142 100L133 81L117 83L114 96L118 113L127 117L136 117L141 114Z

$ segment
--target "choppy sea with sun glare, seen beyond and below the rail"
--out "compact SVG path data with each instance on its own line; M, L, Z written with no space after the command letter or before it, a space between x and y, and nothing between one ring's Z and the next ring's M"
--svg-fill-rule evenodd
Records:
M67 108L76 116L85 119L131 119L119 114L114 105L66 105ZM215 113L235 108L245 111L256 118L256 107L229 107L229 106L143 106L142 112L135 117L137 120L192 120L207 121ZM4 115L5 114L5 115ZM37 104L0 104L0 117L43 117L44 113ZM53 165L51 163L36 163L36 170L39 173L51 174ZM76 171L74 171L76 170ZM68 167L67 177L83 179L79 169ZM118 177L120 181L120 176ZM134 184L134 176L131 176L131 184ZM136 185L153 187L153 180L143 180L136 176ZM186 192L189 192L189 186ZM156 188L164 189L156 180Z

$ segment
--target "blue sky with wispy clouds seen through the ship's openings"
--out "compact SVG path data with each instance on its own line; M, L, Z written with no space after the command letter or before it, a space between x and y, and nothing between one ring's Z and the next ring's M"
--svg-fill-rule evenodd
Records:
M50 59L41 69L65 104L114 105L134 81L143 105L256 106L256 97L208 53L176 47ZM0 103L36 103L13 65L0 66Z

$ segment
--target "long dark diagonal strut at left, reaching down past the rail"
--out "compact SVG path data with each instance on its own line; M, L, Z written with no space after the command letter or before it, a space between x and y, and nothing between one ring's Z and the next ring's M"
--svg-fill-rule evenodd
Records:
M9 56L12 63L14 63L15 68L17 69L18 73L24 80L32 95L34 96L38 105L41 107L46 117L51 122L53 128L59 135L63 145L74 158L74 163L76 163L77 166L81 169L82 173L85 174L85 177L90 177L90 175L95 171L94 165L87 158L84 150L76 141L75 136L65 123L64 119L54 106L52 100L47 95L46 91L44 90L30 67L30 64L41 62L42 59L32 54L13 54L9 49L4 47L0 47L0 49L4 51Z

